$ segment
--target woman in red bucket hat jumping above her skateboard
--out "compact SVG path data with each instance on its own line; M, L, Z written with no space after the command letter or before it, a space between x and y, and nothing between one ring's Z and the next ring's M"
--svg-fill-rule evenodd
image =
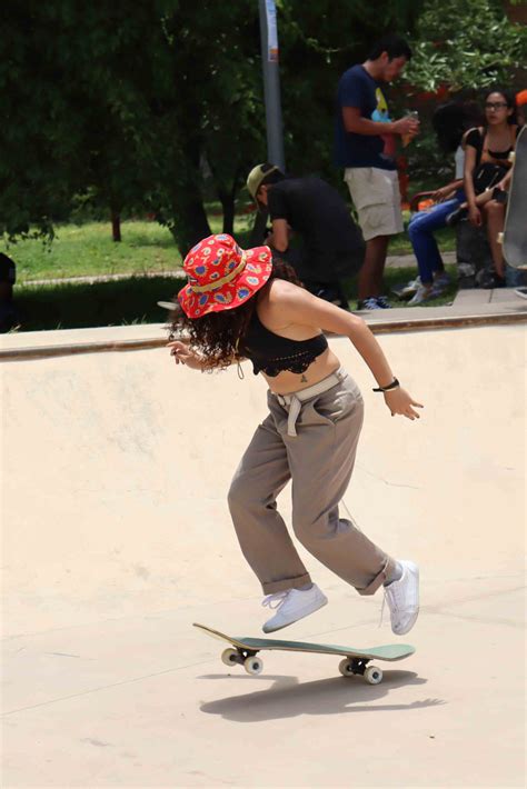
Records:
M241 550L261 583L264 605L275 611L264 632L327 603L277 510L277 496L291 480L297 539L360 595L382 586L392 631L407 633L419 611L417 566L391 558L339 518L364 406L322 330L349 337L391 416L414 420L421 406L394 377L366 323L305 290L268 247L242 250L230 236L210 236L190 250L183 268L188 282L178 293L171 328L188 334L189 342L169 341L176 363L206 371L249 359L269 386L269 413L228 496Z

